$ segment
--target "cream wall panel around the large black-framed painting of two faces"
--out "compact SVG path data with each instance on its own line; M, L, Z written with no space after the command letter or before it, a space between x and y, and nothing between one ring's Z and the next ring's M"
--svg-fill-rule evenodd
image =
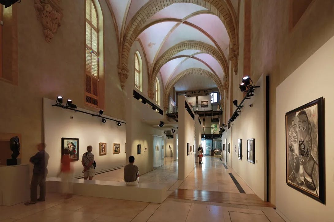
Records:
M334 37L276 88L276 210L290 221L333 221L333 61ZM286 184L285 113L320 97L324 98L325 113L326 205Z

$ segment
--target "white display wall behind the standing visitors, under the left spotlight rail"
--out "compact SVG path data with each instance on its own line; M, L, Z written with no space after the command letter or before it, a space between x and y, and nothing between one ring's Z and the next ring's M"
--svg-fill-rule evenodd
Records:
M89 145L93 146L92 153L97 163L96 172L125 165L125 124L117 126L117 122L111 120L107 120L104 124L101 118L52 106L52 104L55 104L55 100L43 98L45 151L50 156L47 167L48 177L56 177L60 170L61 138L79 139L79 160L72 164L74 177L83 176L81 159ZM92 113L89 110L80 110ZM99 143L107 143L107 154L104 156L99 155ZM113 143L121 145L120 154L113 154Z

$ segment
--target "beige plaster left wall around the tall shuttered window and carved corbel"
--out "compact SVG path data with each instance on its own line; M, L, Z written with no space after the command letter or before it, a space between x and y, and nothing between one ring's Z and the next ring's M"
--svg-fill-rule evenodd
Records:
M117 38L111 12L100 0L104 16L105 114L124 119L123 91L117 74ZM33 2L18 7L18 85L0 81L0 132L22 135L22 162L28 163L43 141L42 98L57 95L85 105L85 2L62 1L63 18L51 43L45 41ZM115 104L117 104L115 108ZM60 146L60 142L59 142Z

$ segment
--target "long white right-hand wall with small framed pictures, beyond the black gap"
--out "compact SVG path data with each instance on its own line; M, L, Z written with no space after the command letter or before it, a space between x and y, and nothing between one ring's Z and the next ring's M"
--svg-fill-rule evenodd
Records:
M227 165L242 178L242 180L258 195L262 200L266 200L266 76L261 76L254 85L255 95L251 99L246 99L242 105L241 113L230 124L231 127L223 133L223 143L227 139L226 151ZM240 102L240 101L239 101ZM249 107L253 104L253 107ZM233 107L233 112L236 107ZM247 139L255 139L255 164L247 161ZM241 160L238 159L234 146L238 146L238 139L242 140ZM228 150L230 143L230 153Z

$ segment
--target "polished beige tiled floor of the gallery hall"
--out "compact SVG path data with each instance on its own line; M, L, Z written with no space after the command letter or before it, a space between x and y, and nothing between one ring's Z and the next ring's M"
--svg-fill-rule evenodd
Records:
M228 173L233 173L247 194L252 190L219 158L206 158L195 166L185 181L177 180L177 161L165 158L165 165L140 177L143 183L163 183L171 194L176 189L197 189L239 193ZM96 175L95 180L122 181L123 168ZM48 193L45 202L25 206L0 206L0 221L101 221L101 222L206 222L206 221L284 221L273 208L208 201L167 198L162 204L73 196L64 200Z

